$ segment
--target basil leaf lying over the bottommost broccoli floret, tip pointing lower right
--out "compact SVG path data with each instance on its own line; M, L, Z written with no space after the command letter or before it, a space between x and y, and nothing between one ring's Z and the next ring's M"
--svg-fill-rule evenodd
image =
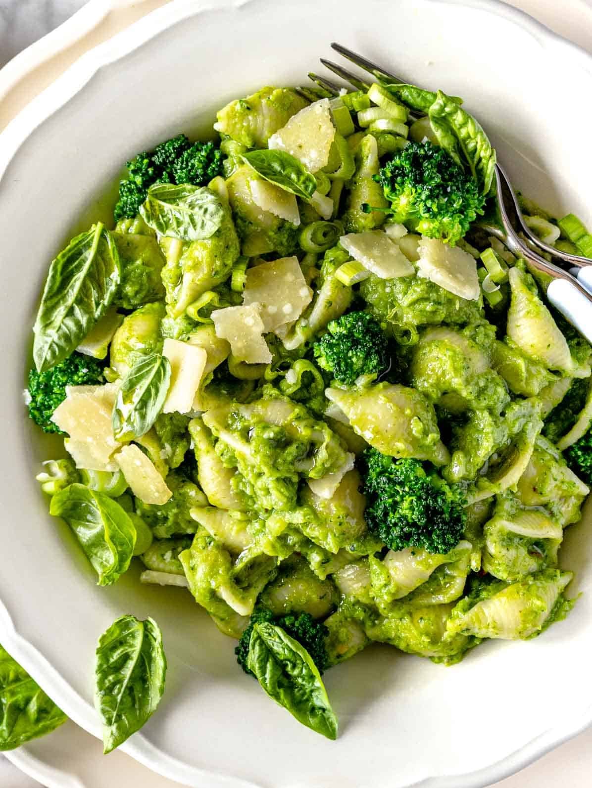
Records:
M281 626L253 626L247 667L266 693L299 723L330 739L337 738L337 717L311 655Z

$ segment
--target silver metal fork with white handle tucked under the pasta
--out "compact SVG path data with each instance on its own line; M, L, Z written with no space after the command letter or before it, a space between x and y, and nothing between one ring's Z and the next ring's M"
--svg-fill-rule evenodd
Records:
M349 50L346 46L332 43L331 48L348 61L359 66L360 69L370 73L379 83L407 82L393 72L389 72L382 66ZM369 83L344 69L343 66L325 58L321 58L321 62L356 90L367 91L370 87ZM341 88L332 80L327 80L326 77L318 76L315 73L309 73L308 76L323 90L333 95L339 95ZM420 113L410 113L410 117L417 118L421 115ZM505 243L505 246L513 254L524 258L527 266L534 273L538 273L537 279L542 284L549 301L568 318L572 325L575 325L580 333L586 336L587 340L592 342L592 310L590 310L590 304L592 304L592 260L580 255L571 255L543 243L524 221L516 193L505 170L499 164L495 168L495 180L497 205L502 226L482 223L482 229ZM552 262L538 254L539 251L551 255ZM561 266L577 269L576 276Z

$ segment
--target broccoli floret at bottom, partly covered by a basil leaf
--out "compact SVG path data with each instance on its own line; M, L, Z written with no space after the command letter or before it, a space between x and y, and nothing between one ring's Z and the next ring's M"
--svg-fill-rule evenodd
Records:
M312 661L318 667L318 672L322 673L329 667L329 658L325 648L325 638L329 630L324 624L315 621L310 613L300 613L300 615L274 615L267 608L260 605L255 608L249 624L244 633L240 636L239 644L234 649L236 662L243 668L245 673L253 672L247 667L247 657L249 652L249 642L253 626L262 622L272 623L281 626L290 637L298 641L300 645L311 655Z

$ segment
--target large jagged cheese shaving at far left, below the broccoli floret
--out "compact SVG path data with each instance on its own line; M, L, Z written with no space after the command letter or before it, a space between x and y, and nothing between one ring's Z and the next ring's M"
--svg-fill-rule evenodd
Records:
M67 386L66 398L51 420L69 434L68 451L76 467L114 470L112 455L121 448L113 436L111 413L117 386Z

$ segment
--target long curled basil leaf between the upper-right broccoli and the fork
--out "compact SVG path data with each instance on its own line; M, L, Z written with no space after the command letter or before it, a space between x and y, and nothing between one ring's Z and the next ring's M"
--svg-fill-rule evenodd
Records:
M496 154L482 126L442 91L437 91L428 117L441 147L459 164L462 154L483 194L489 194Z

